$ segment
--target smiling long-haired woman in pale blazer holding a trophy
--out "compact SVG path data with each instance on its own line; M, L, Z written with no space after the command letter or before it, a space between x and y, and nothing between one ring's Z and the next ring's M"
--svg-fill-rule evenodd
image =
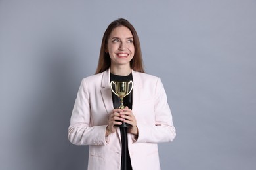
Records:
M124 109L116 109L119 97L112 93L111 80L133 81ZM144 73L133 25L115 20L104 33L96 74L81 82L68 129L70 142L89 145L89 170L157 170L157 143L173 141L175 135L163 84Z

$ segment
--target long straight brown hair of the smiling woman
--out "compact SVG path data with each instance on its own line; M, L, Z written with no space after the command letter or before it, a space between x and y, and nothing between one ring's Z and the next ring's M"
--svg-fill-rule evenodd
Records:
M125 26L128 29L130 29L132 35L133 35L133 43L135 46L135 54L133 56L133 59L130 61L131 69L134 71L139 71L142 73L145 73L144 67L143 67L143 61L142 61L142 53L141 53L141 48L140 48L140 41L139 37L137 35L137 32L135 31L135 28L131 23L123 18L119 18L117 20L114 20L110 25L108 25L108 28L106 29L103 38L102 38L102 43L101 43L101 48L100 48L100 57L98 59L98 67L96 69L96 74L97 73L102 73L103 71L106 71L110 67L110 55L108 52L106 52L106 46L108 44L108 38L110 36L110 33L112 32L113 29L116 27L121 27Z

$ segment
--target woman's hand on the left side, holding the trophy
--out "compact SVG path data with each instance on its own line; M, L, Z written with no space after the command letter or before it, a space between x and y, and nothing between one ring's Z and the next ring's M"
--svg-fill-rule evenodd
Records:
M108 126L106 127L106 136L110 135L110 133L116 132L115 125L122 124L124 119L120 117L119 112L123 112L123 110L122 109L114 109L112 111L112 113L110 114L110 116L108 118Z

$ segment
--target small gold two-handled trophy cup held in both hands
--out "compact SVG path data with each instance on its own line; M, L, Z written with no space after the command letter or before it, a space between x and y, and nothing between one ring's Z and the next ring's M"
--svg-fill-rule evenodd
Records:
M112 84L114 84L115 90L112 88ZM130 89L129 89L129 84L131 84ZM129 82L114 82L114 81L111 81L110 82L110 88L111 88L112 92L115 95L117 95L117 97L120 98L121 105L119 106L119 109L125 108L125 106L123 105L123 97L129 95L129 93L131 93L131 90L133 90L133 81L129 81ZM128 127L128 125L125 124L125 122L123 122L123 124L121 124L120 126L121 127Z

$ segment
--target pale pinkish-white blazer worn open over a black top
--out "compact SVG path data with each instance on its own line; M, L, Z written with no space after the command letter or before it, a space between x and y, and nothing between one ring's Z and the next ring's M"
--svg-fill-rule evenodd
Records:
M173 141L175 127L160 78L132 71L133 114L139 135L128 133L128 148L133 170L158 170L158 145ZM108 116L113 110L110 69L84 78L77 93L68 128L68 139L76 145L89 145L89 170L119 170L121 136L105 137Z

